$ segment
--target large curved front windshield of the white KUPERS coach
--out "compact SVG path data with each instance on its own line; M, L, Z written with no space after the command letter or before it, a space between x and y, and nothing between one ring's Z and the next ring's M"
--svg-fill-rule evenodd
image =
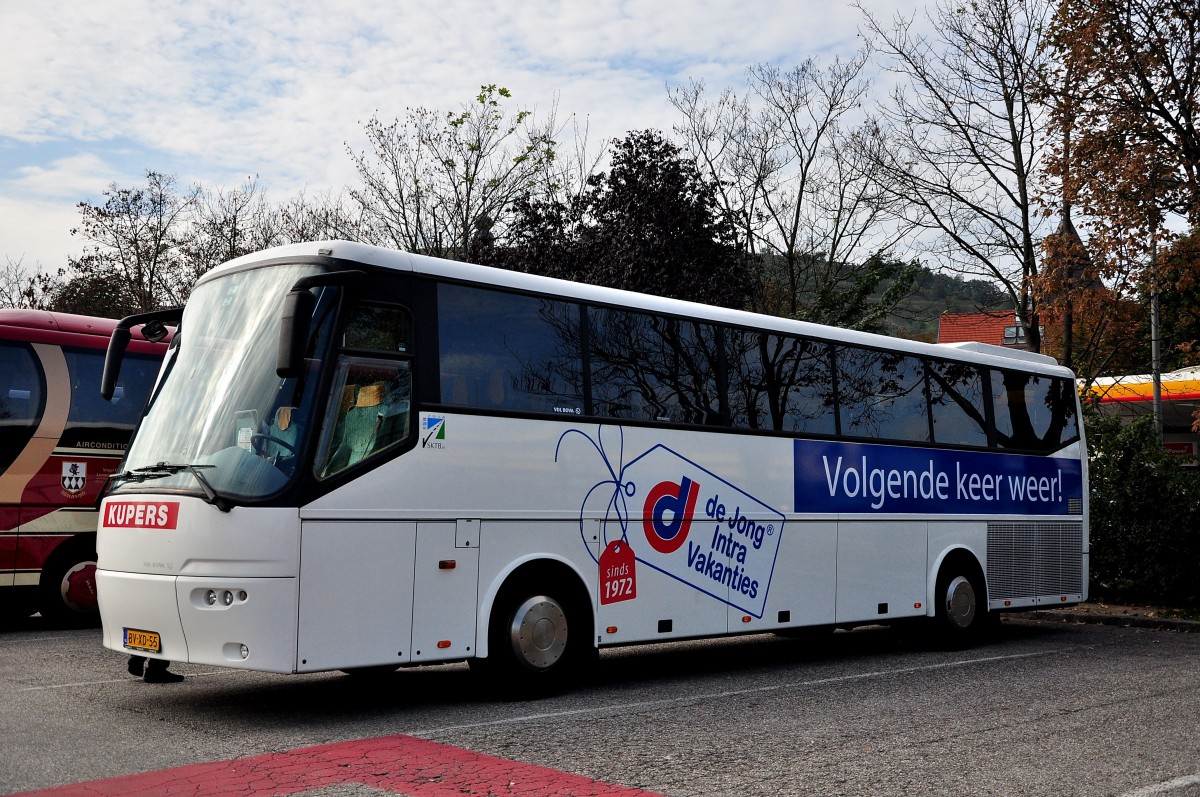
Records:
M312 427L318 373L312 358L328 337L332 310L318 300L307 367L287 379L276 374L280 313L296 280L319 271L300 264L260 268L197 286L113 492L253 501L288 485Z

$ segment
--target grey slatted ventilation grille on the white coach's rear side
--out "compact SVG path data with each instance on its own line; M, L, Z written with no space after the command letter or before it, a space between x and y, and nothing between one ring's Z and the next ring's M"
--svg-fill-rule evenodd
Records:
M988 523L989 598L1009 600L1082 591L1082 523Z

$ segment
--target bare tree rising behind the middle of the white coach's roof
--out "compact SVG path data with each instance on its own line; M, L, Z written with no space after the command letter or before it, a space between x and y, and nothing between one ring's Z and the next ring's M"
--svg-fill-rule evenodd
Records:
M701 82L668 90L684 116L676 133L766 269L762 310L818 318L820 296L902 236L890 210L898 192L880 186L880 128L863 108L866 62L863 50L828 66L755 66L742 97L726 89L708 101Z

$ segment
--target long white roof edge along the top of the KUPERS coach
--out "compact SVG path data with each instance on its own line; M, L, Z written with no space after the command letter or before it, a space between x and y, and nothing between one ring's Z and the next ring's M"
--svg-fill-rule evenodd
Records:
M780 316L764 316L746 312L743 310L731 310L715 305L702 305L680 299L667 299L653 294L622 290L618 288L605 288L569 280L558 280L535 274L521 271L508 271L474 263L461 260L445 260L442 258L414 254L401 250L390 250L368 244L356 244L352 241L312 241L306 244L290 244L275 248L263 250L252 254L246 254L234 260L229 260L200 277L200 282L217 277L226 271L239 270L252 264L260 264L264 260L286 260L298 257L329 257L344 260L354 260L366 265L383 269L395 269L400 271L412 271L439 276L449 280L474 282L497 288L511 288L552 295L560 299L578 301L592 301L631 310L643 310L648 312L668 313L685 318L697 318L715 323L743 325L772 331L790 332L793 335L806 335L810 337L842 341L846 343L858 343L874 348L883 348L905 352L910 354L923 354L925 356L946 358L978 364L1010 367L1019 370L1032 370L1057 376L1074 378L1068 368L1060 365L1057 360L1045 354L1037 354L1020 349L1008 349L998 346L986 346L980 343L925 343L922 341L910 341L887 335L862 332L857 330L827 326L811 322L796 320ZM1007 360L1008 362L1004 362Z

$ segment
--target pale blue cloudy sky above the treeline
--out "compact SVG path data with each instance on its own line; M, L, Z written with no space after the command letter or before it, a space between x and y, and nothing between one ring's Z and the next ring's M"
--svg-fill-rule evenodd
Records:
M862 0L888 19L920 0ZM668 85L862 44L848 0L0 0L0 265L79 254L79 202L144 185L282 202L354 184L362 122L455 110L497 84L589 149L670 132Z

